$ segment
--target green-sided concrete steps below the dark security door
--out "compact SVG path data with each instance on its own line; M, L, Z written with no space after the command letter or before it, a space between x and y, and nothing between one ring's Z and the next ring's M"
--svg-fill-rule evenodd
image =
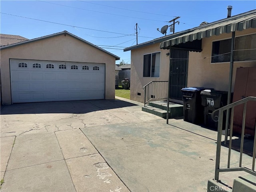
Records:
M142 111L145 111L145 112L148 112L148 113L151 113L151 114L154 114L154 115L157 115L159 117L166 119L166 115L167 115L166 108L167 107L165 107L165 109L162 109L162 108L164 108L163 105L162 105L162 108L159 108L159 104L153 103L153 105L154 106L146 105L146 107L142 107ZM157 107L155 107L155 106L157 106ZM167 106L167 104L166 104L166 106ZM169 108L170 108L169 119L183 116L183 106L182 105L172 104L172 105L170 105Z

